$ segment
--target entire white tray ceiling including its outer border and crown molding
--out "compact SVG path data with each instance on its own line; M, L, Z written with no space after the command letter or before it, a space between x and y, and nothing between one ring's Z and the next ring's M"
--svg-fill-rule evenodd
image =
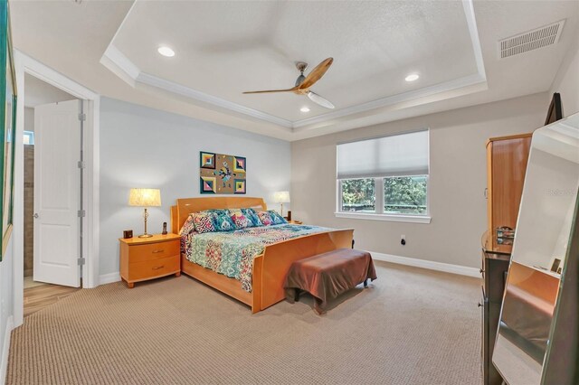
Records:
M579 2L12 1L11 12L17 50L103 96L297 140L546 91L577 39ZM555 45L498 59L498 40L562 19ZM160 57L161 43L176 57ZM103 65L111 47L135 81ZM296 95L240 94L290 87L293 61L327 56L314 90L337 105L329 114ZM482 79L464 81L483 62ZM410 71L421 79L404 82Z

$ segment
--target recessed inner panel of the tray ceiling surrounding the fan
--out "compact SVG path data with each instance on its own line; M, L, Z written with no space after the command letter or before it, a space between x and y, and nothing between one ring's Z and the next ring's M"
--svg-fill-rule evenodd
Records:
M175 57L157 53L164 43ZM335 58L313 89L337 109L477 73L460 2L139 1L112 44L149 75L290 121L329 111L242 91L293 87L295 61ZM422 78L404 81L410 72Z

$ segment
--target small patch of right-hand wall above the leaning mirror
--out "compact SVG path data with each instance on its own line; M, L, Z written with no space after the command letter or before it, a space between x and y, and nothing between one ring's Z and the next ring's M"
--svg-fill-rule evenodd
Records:
M561 67L557 71L553 85L549 90L548 99L553 93L561 94L563 117L569 117L579 112L579 39L569 48Z

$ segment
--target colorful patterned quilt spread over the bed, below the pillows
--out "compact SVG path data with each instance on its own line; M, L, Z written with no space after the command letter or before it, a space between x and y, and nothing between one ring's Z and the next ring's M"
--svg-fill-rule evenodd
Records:
M251 293L253 258L266 246L330 230L333 229L284 223L234 231L192 232L183 236L181 242L190 262L241 281L242 289Z

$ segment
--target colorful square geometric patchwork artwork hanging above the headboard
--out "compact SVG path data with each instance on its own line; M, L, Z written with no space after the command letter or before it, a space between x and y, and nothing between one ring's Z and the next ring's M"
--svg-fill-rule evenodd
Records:
M202 194L238 194L246 192L247 159L243 156L199 154L199 183Z

